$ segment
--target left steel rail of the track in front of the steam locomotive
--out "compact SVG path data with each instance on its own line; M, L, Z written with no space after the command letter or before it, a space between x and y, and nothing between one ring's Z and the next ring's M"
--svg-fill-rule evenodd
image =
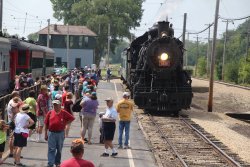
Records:
M159 133L161 134L161 137L169 144L169 146L174 151L174 153L177 156L177 158L181 161L182 165L184 167L188 167L187 163L183 160L183 158L181 158L180 154L176 151L176 149L174 148L173 144L169 141L169 139L166 137L166 135L160 129L159 125L155 122L153 116L151 116L150 114L148 114L148 116L149 116L149 119L153 122L153 124L157 127Z

